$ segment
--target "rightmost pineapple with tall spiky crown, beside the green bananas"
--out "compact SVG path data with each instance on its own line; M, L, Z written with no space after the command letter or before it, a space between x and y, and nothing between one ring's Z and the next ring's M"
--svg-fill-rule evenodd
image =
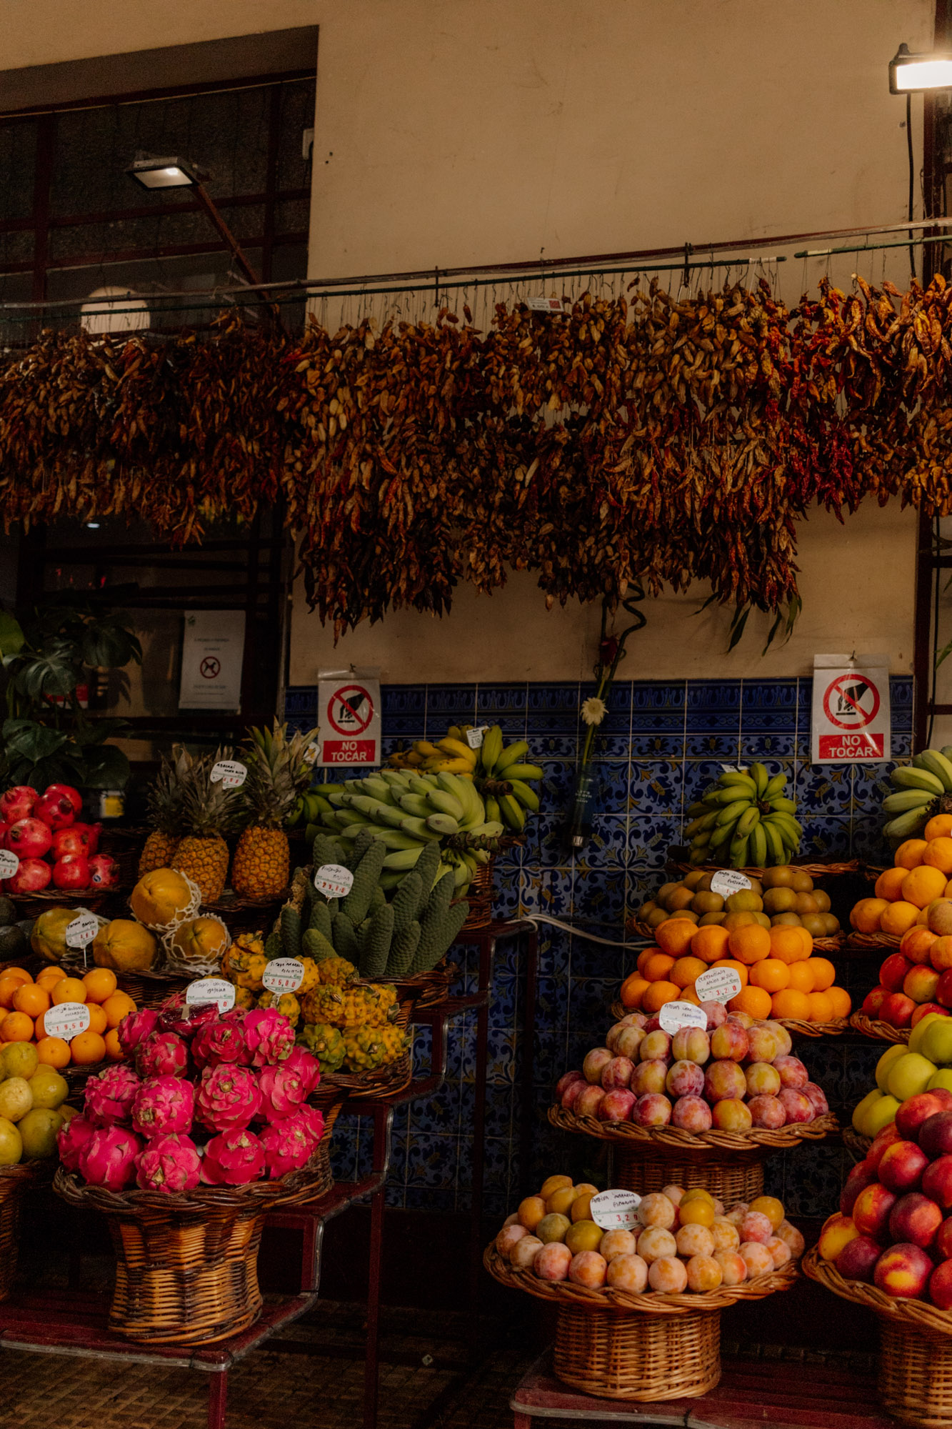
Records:
M317 736L312 729L287 737L287 725L249 730L242 750L247 779L242 803L250 819L232 863L232 887L246 897L280 897L287 887L290 850L282 825L299 795L310 785L303 755Z

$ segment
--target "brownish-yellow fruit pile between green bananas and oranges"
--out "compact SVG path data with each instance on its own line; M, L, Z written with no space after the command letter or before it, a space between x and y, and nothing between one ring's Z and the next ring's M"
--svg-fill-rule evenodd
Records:
M669 917L686 917L699 927L760 923L763 927L805 927L812 937L839 933L839 919L829 910L829 893L813 887L809 873L789 863L765 869L759 879L750 877L748 889L718 893L710 886L716 879L716 873L693 869L678 883L663 883L653 899L642 903L638 922L655 929Z

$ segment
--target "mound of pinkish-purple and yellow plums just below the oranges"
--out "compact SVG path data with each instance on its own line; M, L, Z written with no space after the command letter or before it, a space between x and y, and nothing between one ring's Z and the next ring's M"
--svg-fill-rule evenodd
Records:
M559 1079L556 1100L575 1116L695 1133L779 1130L826 1115L826 1096L790 1056L785 1027L728 1015L719 1002L702 1009L706 1029L679 1027L673 1036L656 1017L622 1017L580 1072Z

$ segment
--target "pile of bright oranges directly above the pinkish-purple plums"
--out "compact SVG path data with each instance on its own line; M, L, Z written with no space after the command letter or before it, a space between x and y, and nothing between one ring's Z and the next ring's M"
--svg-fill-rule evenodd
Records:
M749 922L728 930L670 917L659 923L655 937L658 945L642 949L636 970L622 983L625 1007L656 1013L668 1002L698 1005L696 979L709 967L730 967L740 979L730 1012L815 1023L849 1016L849 993L835 985L829 959L812 956L813 939L805 927Z

